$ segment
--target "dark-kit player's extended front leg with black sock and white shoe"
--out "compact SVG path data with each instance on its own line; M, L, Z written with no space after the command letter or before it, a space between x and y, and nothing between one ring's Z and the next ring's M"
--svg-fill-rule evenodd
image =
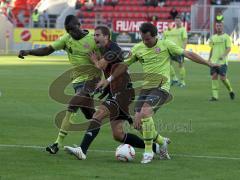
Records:
M64 149L68 153L75 155L79 160L86 159L87 151L93 140L97 137L103 119L109 116L109 114L109 110L104 105L99 106L98 110L94 113L93 118L90 121L81 145L79 147L64 146Z

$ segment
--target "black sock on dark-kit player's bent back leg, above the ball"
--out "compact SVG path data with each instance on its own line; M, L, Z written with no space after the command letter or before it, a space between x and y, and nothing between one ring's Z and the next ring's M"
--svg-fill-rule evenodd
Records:
M131 146L135 147L135 148L141 148L141 149L144 149L145 148L145 144L144 144L144 141L134 135L134 134L131 134L131 133L126 133L123 140L122 140L122 143L124 144L130 144ZM153 143L153 152L156 152L156 144Z

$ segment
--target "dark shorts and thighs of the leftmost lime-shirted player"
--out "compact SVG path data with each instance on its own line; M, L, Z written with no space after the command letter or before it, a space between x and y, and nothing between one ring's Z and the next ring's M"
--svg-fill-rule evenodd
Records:
M80 108L86 119L91 119L95 113L94 100L91 94L94 92L100 78L95 78L88 81L74 83L73 88L75 95L71 98L68 111L77 112Z

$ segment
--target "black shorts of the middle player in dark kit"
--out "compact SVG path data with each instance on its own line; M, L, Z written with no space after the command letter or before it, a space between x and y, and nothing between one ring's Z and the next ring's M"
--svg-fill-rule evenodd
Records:
M102 103L110 111L110 120L127 120L130 124L133 123L129 114L129 105L135 98L134 89L130 88L123 92L109 95Z

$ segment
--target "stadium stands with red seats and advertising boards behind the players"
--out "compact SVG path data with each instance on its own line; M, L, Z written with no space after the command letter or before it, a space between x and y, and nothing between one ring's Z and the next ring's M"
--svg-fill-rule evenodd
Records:
M225 31L231 35L233 43L229 59L240 59L240 14L237 1L153 0L149 4L146 4L145 0L119 0L116 4L112 3L112 0L103 0L104 4L91 0L1 1L1 54L16 53L21 48L48 45L64 33L63 22L68 14L77 15L82 22L82 28L91 30L98 24L109 26L112 29L112 39L127 48L131 46L128 43L141 40L138 27L144 21L153 22L161 36L168 24L173 23L170 11L175 7L188 30L187 49L204 57L209 53L207 44L209 36L214 32L215 17L221 11L225 20ZM222 5L219 5L220 3ZM40 14L38 28L33 28L31 17L35 9ZM46 26L41 18L44 10L48 14Z

